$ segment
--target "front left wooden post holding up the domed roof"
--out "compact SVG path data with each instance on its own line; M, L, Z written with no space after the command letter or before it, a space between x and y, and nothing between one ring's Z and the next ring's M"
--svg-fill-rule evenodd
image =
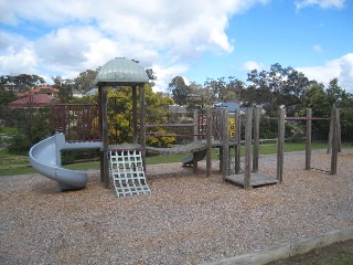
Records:
M107 120L107 87L101 87L101 141L103 141L103 179L105 187L109 188L109 166L108 166L108 120Z

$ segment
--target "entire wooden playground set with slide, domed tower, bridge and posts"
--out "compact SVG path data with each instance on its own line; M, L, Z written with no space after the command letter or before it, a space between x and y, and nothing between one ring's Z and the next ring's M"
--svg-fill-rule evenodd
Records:
M246 189L256 186L281 183L284 168L284 131L285 131L285 109L279 110L278 123L278 153L277 153L277 179L259 174L258 171L258 130L259 130L259 109L255 112L254 123L254 160L253 174L250 173L250 148L252 148L252 126L253 126L253 109L247 110L246 134L245 134L245 169L244 178L239 174L240 169L240 121L239 110L235 115L234 123L229 118L229 113L226 109L212 112L194 112L193 124L181 125L147 125L146 124L146 96L145 85L148 83L148 76L139 64L126 60L114 59L108 61L99 71L96 77L98 86L98 105L55 105L53 107L53 121L55 128L63 134L39 142L30 150L31 165L42 174L58 181L62 190L81 189L86 186L87 180L75 184L76 179L83 179L81 171L71 172L61 167L61 150L66 149L83 149L98 148L100 150L100 180L106 188L115 187L118 195L147 194L150 189L146 180L146 156L147 153L165 155L165 153L182 153L190 152L192 156L185 158L183 166L192 166L193 172L197 172L197 161L206 157L206 176L211 174L212 170L212 148L220 149L220 171L223 172L223 180L240 184ZM125 145L108 145L108 121L107 121L107 89L108 87L129 86L132 89L132 135L131 144ZM139 98L139 104L138 104ZM334 110L335 112L335 110ZM332 149L331 173L335 173L336 167L336 147L338 147L338 130L339 114L333 115L332 137L330 138ZM287 118L288 119L288 118ZM308 121L313 119L307 117ZM157 126L193 127L193 132L188 134L188 137L193 137L193 141L188 145L176 146L172 148L153 148L148 147L147 136L153 137L167 136L165 134L157 134L150 131ZM233 129L229 129L231 127ZM147 131L149 129L149 131ZM307 134L308 134L307 129ZM310 132L311 134L311 132ZM178 137L178 134L172 134ZM181 135L186 136L186 135ZM65 137L66 140L65 141ZM56 142L56 138L61 139L62 144ZM307 159L310 167L310 146L307 137ZM47 144L45 144L47 142ZM311 145L311 138L310 138ZM229 148L235 149L235 174L229 174ZM50 153L54 152L55 156ZM309 156L310 153L310 156ZM110 165L110 166L109 166ZM109 178L111 172L111 178ZM255 174L257 173L257 176ZM258 178L260 177L260 178ZM238 180L234 180L237 178ZM72 180L68 183L66 179ZM87 179L87 177L85 177ZM260 179L260 180L259 180ZM254 180L256 180L254 182Z

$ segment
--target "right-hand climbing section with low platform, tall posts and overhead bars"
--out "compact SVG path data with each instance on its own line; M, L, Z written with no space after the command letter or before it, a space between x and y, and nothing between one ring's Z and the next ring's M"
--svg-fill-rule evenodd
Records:
M254 115L253 115L254 114ZM254 116L254 123L253 123ZM258 158L259 158L259 121L260 121L260 108L248 108L246 110L245 120L245 161L244 161L244 174L240 173L240 119L239 113L236 114L236 142L235 142L235 167L234 174L229 174L229 163L224 163L223 179L232 183L250 189L253 187L282 183L284 177L284 147L285 147L285 123L293 120L304 120L306 125L306 170L314 169L325 171L330 174L336 174L338 167L338 153L341 151L341 129L340 129L340 110L332 106L331 117L321 118L312 117L311 108L307 109L307 117L286 117L286 109L278 109L278 117L270 118L278 120L278 138L277 138L277 176L270 177L258 172ZM312 120L330 120L330 132L329 132L329 147L328 152L331 151L331 168L330 171L312 168L311 167L311 135L312 135ZM254 125L254 128L253 128ZM254 132L254 137L252 134ZM225 135L224 141L227 141ZM252 142L253 142L253 170L252 170ZM224 145L227 148L228 145ZM228 153L228 150L224 150ZM224 158L225 159L225 158Z

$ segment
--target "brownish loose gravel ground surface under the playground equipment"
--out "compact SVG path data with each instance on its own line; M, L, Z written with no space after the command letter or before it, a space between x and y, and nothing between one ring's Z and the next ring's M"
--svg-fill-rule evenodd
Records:
M252 190L180 163L148 167L149 195L117 198L90 171L84 190L58 192L40 174L0 178L0 264L204 264L353 226L353 150L336 176L285 155L284 183ZM312 166L329 170L330 156ZM276 176L276 156L259 171Z

